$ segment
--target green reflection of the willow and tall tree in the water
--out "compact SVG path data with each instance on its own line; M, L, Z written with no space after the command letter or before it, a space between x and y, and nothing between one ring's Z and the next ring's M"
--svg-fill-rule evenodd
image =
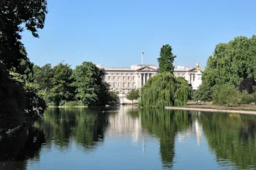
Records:
M143 109L141 110L141 124L148 133L160 139L162 163L166 168L172 168L175 135L192 125L192 116L184 111Z

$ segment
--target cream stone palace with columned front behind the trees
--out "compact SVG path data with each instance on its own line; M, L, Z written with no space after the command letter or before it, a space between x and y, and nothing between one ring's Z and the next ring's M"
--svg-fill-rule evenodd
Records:
M131 89L140 89L146 84L150 77L156 75L158 67L156 65L131 65L131 67L104 67L105 82L110 84L110 91L119 94L127 94ZM174 69L176 77L184 77L188 83L192 84L193 89L197 89L202 83L202 72L199 64L197 67L177 66Z

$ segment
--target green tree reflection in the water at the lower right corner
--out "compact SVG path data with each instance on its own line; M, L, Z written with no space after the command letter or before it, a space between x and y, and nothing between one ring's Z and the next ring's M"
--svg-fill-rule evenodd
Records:
M255 116L207 113L200 121L217 158L228 159L238 168L256 168Z

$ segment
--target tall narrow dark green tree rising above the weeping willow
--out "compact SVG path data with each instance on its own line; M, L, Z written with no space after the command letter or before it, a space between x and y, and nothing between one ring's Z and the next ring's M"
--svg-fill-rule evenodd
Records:
M174 59L175 55L172 54L172 47L166 44L161 47L160 57L157 58L159 62L159 72L174 72Z

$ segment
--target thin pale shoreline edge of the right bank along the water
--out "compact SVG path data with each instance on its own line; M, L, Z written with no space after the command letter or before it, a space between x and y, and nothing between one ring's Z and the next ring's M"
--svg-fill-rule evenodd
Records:
M202 111L202 112L226 112L226 113L256 115L256 111L246 111L246 110L214 109L214 108L200 108L200 107L165 107L165 108L167 110L190 110L190 111Z

